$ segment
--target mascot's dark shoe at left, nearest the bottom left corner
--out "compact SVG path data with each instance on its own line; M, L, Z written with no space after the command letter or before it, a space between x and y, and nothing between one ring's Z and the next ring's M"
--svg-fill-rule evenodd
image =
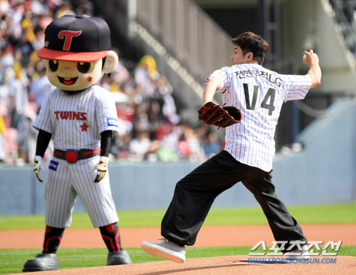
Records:
M58 259L55 254L37 254L34 259L25 262L22 272L58 270Z

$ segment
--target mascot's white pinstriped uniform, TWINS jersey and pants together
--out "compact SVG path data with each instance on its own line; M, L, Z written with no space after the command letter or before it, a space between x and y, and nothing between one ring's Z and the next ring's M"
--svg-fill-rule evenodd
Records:
M117 133L117 113L112 95L106 89L93 85L78 94L68 95L61 89L49 91L33 127L53 135L55 149L97 149L100 133ZM72 223L71 213L77 195L83 202L94 227L118 221L111 197L109 171L98 183L96 170L100 156L69 163L51 160L46 182L45 223L65 228Z

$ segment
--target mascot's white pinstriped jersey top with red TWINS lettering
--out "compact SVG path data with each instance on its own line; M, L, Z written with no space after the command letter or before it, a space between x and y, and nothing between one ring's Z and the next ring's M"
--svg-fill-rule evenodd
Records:
M55 149L100 148L100 133L118 131L115 103L98 85L76 95L56 88L46 95L33 127L51 133Z

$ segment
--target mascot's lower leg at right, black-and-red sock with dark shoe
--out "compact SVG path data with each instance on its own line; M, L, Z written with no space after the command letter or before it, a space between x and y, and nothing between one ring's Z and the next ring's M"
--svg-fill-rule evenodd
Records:
M99 227L101 236L105 242L109 254L106 265L130 264L132 263L129 253L121 247L120 230L117 223Z

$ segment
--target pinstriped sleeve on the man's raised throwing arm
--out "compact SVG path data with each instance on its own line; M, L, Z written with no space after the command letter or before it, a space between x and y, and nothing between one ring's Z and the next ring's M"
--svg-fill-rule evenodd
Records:
M307 75L280 75L284 84L284 102L304 99L311 88L311 76Z

